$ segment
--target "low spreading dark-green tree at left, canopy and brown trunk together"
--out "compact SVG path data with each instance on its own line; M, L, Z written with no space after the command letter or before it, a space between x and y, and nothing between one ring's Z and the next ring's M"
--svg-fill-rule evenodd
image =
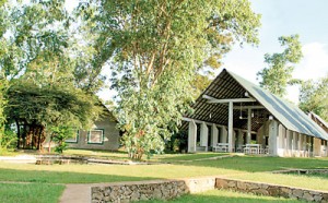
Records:
M17 126L19 146L42 148L46 132L91 127L102 107L95 96L67 85L38 86L14 81L8 89L8 118ZM22 130L22 131L21 131Z

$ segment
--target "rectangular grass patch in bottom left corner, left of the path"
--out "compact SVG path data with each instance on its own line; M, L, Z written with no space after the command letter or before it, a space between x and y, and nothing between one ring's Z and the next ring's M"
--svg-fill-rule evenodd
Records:
M65 186L43 183L0 183L0 202L57 203Z

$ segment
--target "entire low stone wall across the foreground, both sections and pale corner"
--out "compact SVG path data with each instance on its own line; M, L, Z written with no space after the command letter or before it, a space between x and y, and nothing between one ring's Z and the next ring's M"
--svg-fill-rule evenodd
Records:
M282 196L311 202L328 202L328 191L308 190L220 177L102 184L91 188L91 202L131 202L153 199L169 200L183 194L203 192L213 189Z

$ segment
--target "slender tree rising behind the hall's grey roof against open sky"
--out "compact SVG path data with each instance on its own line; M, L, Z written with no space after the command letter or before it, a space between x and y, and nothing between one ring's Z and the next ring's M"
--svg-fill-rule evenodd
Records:
M260 77L260 86L270 91L272 94L283 97L289 84L298 83L292 79L294 63L298 63L303 57L302 46L298 35L279 37L281 46L286 48L280 53L265 55L265 62L268 68L257 73Z

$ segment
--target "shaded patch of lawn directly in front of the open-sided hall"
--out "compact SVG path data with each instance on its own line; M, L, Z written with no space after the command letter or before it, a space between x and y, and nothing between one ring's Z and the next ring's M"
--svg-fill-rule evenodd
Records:
M268 156L234 156L222 159L197 160L175 164L233 169L247 172L273 171L290 168L328 168L328 159L282 158Z

